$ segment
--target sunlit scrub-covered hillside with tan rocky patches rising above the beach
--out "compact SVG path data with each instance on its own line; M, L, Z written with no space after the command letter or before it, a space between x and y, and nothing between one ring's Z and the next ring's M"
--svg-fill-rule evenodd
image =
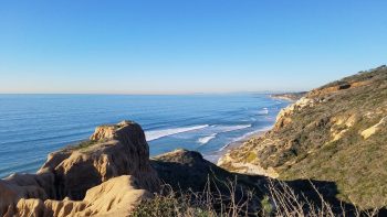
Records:
M283 109L272 130L229 151L227 170L334 182L338 199L387 205L387 67L316 88Z

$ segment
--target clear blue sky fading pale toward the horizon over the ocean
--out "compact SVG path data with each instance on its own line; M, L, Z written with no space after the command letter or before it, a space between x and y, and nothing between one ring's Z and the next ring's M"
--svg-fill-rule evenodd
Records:
M387 63L386 0L1 0L0 93L307 90Z

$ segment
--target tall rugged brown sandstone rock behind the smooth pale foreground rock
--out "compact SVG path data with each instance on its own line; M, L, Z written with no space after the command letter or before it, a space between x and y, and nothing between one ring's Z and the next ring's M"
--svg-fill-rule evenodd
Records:
M97 127L90 145L54 152L38 174L55 174L51 198L82 199L85 192L112 177L133 175L140 186L157 191L158 177L149 164L149 148L134 122Z

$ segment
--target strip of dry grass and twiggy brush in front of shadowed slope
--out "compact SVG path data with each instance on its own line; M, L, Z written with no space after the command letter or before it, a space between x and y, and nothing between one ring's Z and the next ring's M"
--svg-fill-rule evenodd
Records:
M210 183L210 182L208 182ZM221 194L217 186L208 184L200 193L174 192L165 185L160 194L155 194L150 200L143 202L132 214L133 217L237 217L237 216L270 216L270 217L334 217L356 216L373 217L378 209L358 210L341 206L333 207L323 195L316 191L320 199L308 200L296 194L286 183L269 181L268 195L261 202L253 200L252 193L243 197L236 196L237 181L224 182L230 194ZM311 183L312 184L312 183ZM312 184L313 185L313 184ZM215 189L215 191L213 191ZM239 199L238 199L239 198ZM240 199L243 198L243 199ZM259 204L258 211L252 213L252 204Z

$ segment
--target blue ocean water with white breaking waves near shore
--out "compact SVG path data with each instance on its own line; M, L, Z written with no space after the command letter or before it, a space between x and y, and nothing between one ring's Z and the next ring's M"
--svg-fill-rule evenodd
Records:
M150 155L177 148L211 159L270 128L289 102L266 95L0 95L0 177L35 172L46 155L87 139L96 126L134 120Z

